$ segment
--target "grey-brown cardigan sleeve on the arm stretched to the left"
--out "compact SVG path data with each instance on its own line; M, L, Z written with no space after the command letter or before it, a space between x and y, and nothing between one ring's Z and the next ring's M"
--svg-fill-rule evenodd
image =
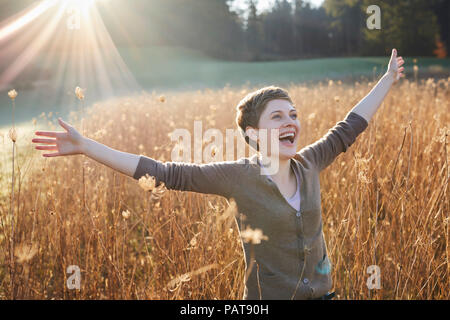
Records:
M186 162L161 162L141 155L133 178L139 180L149 174L156 185L164 182L167 189L217 194L230 198L237 185L237 161L194 164Z

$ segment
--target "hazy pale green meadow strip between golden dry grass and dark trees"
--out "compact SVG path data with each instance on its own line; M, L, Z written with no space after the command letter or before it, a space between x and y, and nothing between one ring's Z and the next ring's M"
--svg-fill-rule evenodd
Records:
M90 105L113 97L140 94L142 90L180 92L221 89L227 85L233 88L243 85L312 85L328 79L354 83L361 79L378 79L389 61L388 57L363 57L230 62L212 59L194 50L173 47L119 48L118 53L135 81L126 78L118 69L111 68L108 76L112 84L108 90L101 90L95 72L81 81L76 70L77 62L67 60L66 52L37 57L12 85L19 91L17 122L30 121L42 112L52 112L54 115L58 112L58 115L67 116L71 111L77 111L79 106L73 94L76 86L87 89L87 104ZM450 76L450 59L403 57L405 74L409 79L414 79L413 59L417 59L418 75L422 79ZM66 61L66 66L61 68L54 61ZM10 101L6 91L3 91L0 92L0 131L10 122Z

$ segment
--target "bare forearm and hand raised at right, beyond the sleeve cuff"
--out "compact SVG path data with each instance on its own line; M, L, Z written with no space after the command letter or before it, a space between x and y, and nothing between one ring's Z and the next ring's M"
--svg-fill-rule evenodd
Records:
M397 50L392 49L391 60L389 61L387 72L378 81L375 87L373 87L373 89L353 107L351 112L357 113L369 122L380 107L381 102L386 97L386 94L389 92L392 85L401 77L405 76L402 73L404 67L401 67L404 62L402 57L397 57Z

